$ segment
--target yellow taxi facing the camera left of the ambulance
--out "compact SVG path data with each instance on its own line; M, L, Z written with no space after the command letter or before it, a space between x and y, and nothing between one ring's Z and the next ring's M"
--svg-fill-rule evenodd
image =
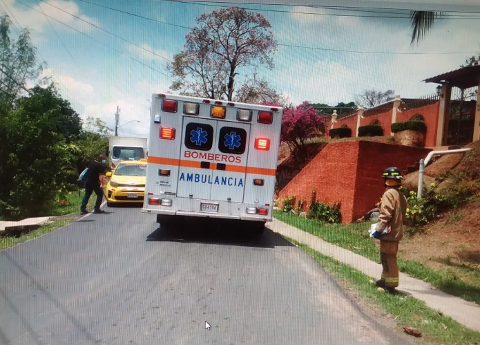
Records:
M122 160L113 173L105 174L109 178L106 185L106 203L143 203L145 195L146 159Z

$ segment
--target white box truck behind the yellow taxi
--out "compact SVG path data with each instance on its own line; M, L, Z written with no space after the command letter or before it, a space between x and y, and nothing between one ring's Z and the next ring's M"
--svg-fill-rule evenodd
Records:
M110 167L115 169L120 160L146 158L146 138L110 137L108 139Z

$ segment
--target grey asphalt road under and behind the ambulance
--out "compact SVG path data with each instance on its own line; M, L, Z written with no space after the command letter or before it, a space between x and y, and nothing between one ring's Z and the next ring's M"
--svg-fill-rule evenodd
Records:
M106 210L0 252L1 344L405 343L269 230Z

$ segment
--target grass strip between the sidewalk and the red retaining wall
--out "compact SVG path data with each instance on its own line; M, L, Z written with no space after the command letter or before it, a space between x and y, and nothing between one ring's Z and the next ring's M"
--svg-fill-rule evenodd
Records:
M331 224L279 211L275 211L273 215L279 221L314 234L324 241L334 243L372 261L380 260L375 240L369 238L369 223ZM400 258L399 270L410 277L427 281L450 295L480 304L480 286L461 281L449 270L433 270L420 262Z

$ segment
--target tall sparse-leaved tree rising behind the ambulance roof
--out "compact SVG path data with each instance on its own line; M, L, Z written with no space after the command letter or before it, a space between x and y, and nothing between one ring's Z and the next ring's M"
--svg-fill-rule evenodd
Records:
M273 68L276 41L271 24L260 13L238 7L204 13L185 38L184 49L168 67L175 77L171 89L184 95L233 100L236 88L247 88L236 86L240 67Z

